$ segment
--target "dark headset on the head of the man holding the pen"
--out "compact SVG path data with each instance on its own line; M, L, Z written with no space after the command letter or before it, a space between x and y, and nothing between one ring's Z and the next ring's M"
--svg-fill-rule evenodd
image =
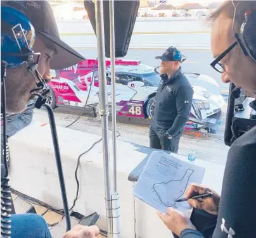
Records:
M243 53L256 62L256 12L246 11L245 19L240 27L240 34L235 33L234 37L240 44Z

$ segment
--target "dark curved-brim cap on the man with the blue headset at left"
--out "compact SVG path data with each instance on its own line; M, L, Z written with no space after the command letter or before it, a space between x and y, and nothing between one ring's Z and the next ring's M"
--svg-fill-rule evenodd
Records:
M60 39L53 10L48 1L1 1L1 6L9 6L23 13L35 28L35 37L39 35L46 46L52 46L56 50L50 61L52 70L62 70L86 60Z

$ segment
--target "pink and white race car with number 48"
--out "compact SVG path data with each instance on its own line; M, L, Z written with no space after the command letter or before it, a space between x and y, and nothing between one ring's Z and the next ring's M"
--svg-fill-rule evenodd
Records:
M119 116L153 118L155 94L160 83L160 73L137 60L115 61L115 98ZM111 106L110 61L106 61L108 103ZM99 103L98 61L86 60L77 65L56 70L49 83L51 96L48 103L52 108L68 106L84 108ZM194 95L186 129L205 128L214 133L221 120L224 99L214 78L200 73L184 73L191 83ZM93 84L92 84L93 82ZM88 97L89 95L89 97Z

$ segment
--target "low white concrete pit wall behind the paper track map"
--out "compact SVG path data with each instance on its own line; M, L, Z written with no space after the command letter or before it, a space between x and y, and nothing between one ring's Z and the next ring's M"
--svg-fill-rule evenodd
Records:
M67 189L69 207L77 189L75 167L79 154L98 141L98 135L88 134L58 127L61 161ZM110 146L112 140L110 139ZM51 131L46 123L32 123L10 138L10 185L47 203L54 208L62 208L60 185L54 158ZM130 142L117 141L117 182L120 195L121 237L172 237L169 230L157 216L157 211L132 196L134 182L127 180L129 173L151 153L151 149ZM110 154L111 156L111 154ZM187 160L184 156L179 156ZM224 166L203 160L191 163L206 168L203 184L221 192ZM100 215L98 225L106 229L105 189L103 178L102 143L96 144L80 159L80 192L74 211L89 215L97 211Z

